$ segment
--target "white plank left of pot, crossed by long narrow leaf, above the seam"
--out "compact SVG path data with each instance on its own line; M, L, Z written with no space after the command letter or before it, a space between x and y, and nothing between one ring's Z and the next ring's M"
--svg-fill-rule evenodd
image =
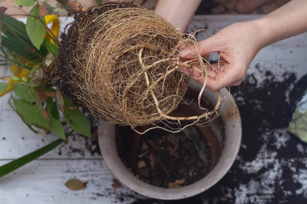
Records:
M16 159L49 144L58 137L54 134L33 133L14 111L2 111L0 122L0 159ZM70 136L42 158L101 158L96 138L77 134Z

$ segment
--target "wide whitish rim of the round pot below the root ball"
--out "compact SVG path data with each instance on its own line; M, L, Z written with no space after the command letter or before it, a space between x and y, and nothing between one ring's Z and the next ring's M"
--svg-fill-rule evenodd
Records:
M193 81L190 83L190 88L196 91L201 90L201 86ZM227 95L228 89L222 89L221 93L222 97ZM216 93L205 90L203 96L205 96L211 104L216 104ZM100 120L100 125L98 127L98 139L101 154L106 165L117 177L117 179L122 184L137 193L151 198L164 200L182 199L194 196L211 188L222 179L222 177L232 166L240 147L242 123L237 106L231 96L228 96L222 100L219 112L221 113L219 117L222 120L225 131L222 154L214 168L203 179L191 185L174 189L164 189L149 185L139 180L126 168L118 156L115 141L115 125L110 125L103 120Z

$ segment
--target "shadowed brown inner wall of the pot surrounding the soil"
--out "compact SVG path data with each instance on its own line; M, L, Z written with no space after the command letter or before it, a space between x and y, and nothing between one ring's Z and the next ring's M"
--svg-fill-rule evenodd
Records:
M199 92L196 92L192 89L188 89L184 97L184 101L186 102L186 104L180 104L179 107L174 110L170 115L174 117L189 117L203 114L204 110L201 110L198 105L198 94ZM201 106L211 111L215 104L212 106L212 104L210 104L209 101L203 96ZM189 123L190 122L191 121L189 121ZM150 125L137 127L137 129L139 131L144 131L149 127ZM210 162L208 163L208 174L216 166L219 158L222 155L225 142L224 127L220 117L217 117L212 121L209 121L203 125L198 125L196 127L203 136L204 141L209 144L208 155L210 157ZM142 137L147 137L150 134L155 134L157 133L156 130L151 130L144 135L140 135L131 130L129 126L116 126L116 143L119 157L121 158L125 166L130 170L130 172L140 179L143 179L144 176L142 175L138 167L138 148L141 145ZM159 133L161 132L164 132L163 134L165 135L171 134L167 131L159 130ZM161 137L161 135L163 134L159 134L157 135L157 137ZM161 162L163 163L164 161Z

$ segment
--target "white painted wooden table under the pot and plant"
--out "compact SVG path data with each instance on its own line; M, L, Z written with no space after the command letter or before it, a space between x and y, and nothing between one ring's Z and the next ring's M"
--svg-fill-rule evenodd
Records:
M195 16L188 32L208 27L198 35L205 39L227 25L260 17L258 15L217 15ZM72 21L62 18L61 29ZM283 64L295 70L298 78L307 72L307 33L277 42L262 49L251 64L249 73L254 72L256 63L271 66ZM278 72L279 70L272 70ZM9 75L8 67L0 68L0 75ZM256 76L257 78L257 76ZM257 80L261 81L260 78ZM0 165L19 158L52 141L57 136L36 135L21 121L8 106L9 94L0 98ZM126 187L113 188L113 175L97 154L93 139L73 136L67 144L61 144L47 155L27 164L0 179L0 204L41 204L41 203L133 203L146 199ZM92 151L92 152L91 152ZM94 151L94 153L93 153ZM77 177L87 182L86 188L71 191L64 183ZM307 181L305 181L307 182ZM242 196L246 196L242 194ZM238 199L244 200L244 199ZM139 202L142 203L142 202ZM240 204L238 202L238 204Z

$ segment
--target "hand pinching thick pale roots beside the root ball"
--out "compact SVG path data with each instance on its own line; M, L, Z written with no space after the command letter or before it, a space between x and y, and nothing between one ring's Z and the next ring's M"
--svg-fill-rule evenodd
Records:
M207 67L206 88L217 91L226 86L241 84L250 63L265 46L266 42L261 36L261 29L258 29L253 21L238 22L197 43L201 56L215 52L220 55L220 62ZM185 60L198 57L194 46L183 48L180 55ZM196 66L200 68L200 65ZM179 67L179 69L193 78L202 77L200 72L191 68ZM195 81L203 85L205 77Z

